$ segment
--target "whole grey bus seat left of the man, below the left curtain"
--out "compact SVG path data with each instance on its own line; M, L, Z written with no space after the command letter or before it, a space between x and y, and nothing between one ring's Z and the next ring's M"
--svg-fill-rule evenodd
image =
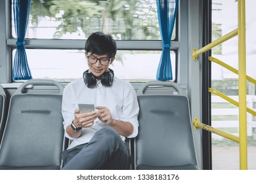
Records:
M58 90L49 94L34 86ZM12 95L0 146L0 169L60 169L63 90L54 80L28 80Z

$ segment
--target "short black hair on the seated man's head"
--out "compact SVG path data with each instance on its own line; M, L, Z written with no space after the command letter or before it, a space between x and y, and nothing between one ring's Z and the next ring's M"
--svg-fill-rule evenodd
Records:
M91 34L85 42L85 52L97 55L107 54L108 58L116 56L116 41L112 35L101 32Z

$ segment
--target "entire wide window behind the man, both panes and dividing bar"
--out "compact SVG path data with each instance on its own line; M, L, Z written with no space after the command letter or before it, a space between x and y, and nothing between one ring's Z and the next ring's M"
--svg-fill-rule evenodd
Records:
M117 58L112 65L116 76L130 82L156 80L162 42L154 0L32 0L26 31L32 77L64 82L79 78L87 68L85 39L95 31L111 34L118 41ZM175 23L172 42L177 42L177 31ZM13 17L12 37L16 37ZM171 47L173 80L177 75L178 48L179 44Z

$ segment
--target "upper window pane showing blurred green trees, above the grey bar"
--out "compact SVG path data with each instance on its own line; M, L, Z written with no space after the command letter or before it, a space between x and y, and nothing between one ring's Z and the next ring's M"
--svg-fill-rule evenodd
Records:
M86 39L95 31L117 40L161 40L156 1L32 0L26 38Z

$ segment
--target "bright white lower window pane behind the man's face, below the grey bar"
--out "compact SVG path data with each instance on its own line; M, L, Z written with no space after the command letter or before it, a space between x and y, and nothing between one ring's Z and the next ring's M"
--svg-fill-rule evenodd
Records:
M16 50L13 50L15 54ZM33 78L51 78L59 82L71 82L88 69L84 50L26 49ZM110 66L115 76L129 82L156 80L161 51L118 50L116 60ZM171 51L173 73L176 54ZM14 57L13 57L14 58ZM175 80L175 75L173 75Z

